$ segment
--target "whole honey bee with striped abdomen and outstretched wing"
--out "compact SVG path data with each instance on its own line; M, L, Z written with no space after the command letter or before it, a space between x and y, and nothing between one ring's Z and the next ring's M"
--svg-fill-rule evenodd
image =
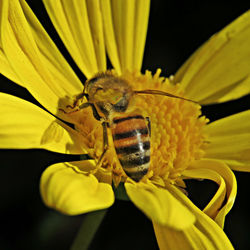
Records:
M94 117L102 122L103 153L98 163L102 162L108 150L107 129L110 128L119 162L127 176L136 182L147 174L150 166L150 119L131 104L132 98L139 94L163 95L191 101L159 90L132 90L125 79L106 72L87 80L83 93L72 106L77 108L76 111L91 107ZM83 98L87 102L79 104Z

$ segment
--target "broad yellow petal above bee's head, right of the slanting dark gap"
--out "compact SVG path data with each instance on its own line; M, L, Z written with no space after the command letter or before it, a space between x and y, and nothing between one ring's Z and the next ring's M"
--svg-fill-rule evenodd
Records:
M62 41L86 77L106 70L99 1L44 0L43 2Z

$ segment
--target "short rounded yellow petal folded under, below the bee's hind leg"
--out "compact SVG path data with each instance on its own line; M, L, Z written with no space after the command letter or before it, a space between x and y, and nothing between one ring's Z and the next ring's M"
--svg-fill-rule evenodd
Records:
M91 174L77 173L78 164L57 163L43 172L40 191L45 204L68 215L110 207L114 202L111 185L99 183ZM81 164L92 164L92 161Z

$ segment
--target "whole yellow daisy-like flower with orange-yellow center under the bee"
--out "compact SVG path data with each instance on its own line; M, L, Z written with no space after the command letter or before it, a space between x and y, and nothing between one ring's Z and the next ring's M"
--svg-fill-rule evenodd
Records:
M225 102L250 92L250 12L213 36L174 77L140 73L150 2L44 0L48 14L86 78L107 70L133 89L156 89L197 101ZM140 182L127 178L110 147L102 165L102 126L91 109L65 113L83 87L24 0L0 1L1 73L25 87L49 112L0 94L1 148L88 153L93 160L57 163L41 178L44 202L62 213L111 206L112 183L124 182L131 201L153 222L161 249L232 249L222 228L236 196L233 170L250 169L250 112L208 123L200 105L138 95L133 105L151 121L151 162ZM69 127L62 120L74 124ZM219 186L203 211L182 191L183 180Z

